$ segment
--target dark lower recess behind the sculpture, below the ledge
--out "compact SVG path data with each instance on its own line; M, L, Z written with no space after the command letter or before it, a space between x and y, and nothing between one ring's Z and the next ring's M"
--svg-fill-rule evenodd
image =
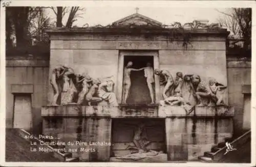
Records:
M111 157L116 155L127 155L137 153L136 150L127 149L130 144L133 144L135 136L137 136L138 127L144 124L141 129L142 133L136 137L136 140L150 141L147 148L154 151L167 152L166 136L165 136L165 119L162 118L114 118L112 120L111 130Z

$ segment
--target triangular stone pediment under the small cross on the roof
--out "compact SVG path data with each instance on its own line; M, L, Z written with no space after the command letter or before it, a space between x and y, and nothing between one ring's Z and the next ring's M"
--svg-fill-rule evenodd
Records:
M120 20L113 22L115 26L124 26L124 25L152 25L152 26L161 26L162 23L151 19L149 17L143 16L141 14L135 13Z

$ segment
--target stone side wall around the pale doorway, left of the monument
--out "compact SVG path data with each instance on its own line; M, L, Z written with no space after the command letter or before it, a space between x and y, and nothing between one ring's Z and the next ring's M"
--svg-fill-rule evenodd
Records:
M49 60L29 57L6 60L6 127L13 127L14 95L28 93L32 100L33 132L41 133L41 106L47 104Z

